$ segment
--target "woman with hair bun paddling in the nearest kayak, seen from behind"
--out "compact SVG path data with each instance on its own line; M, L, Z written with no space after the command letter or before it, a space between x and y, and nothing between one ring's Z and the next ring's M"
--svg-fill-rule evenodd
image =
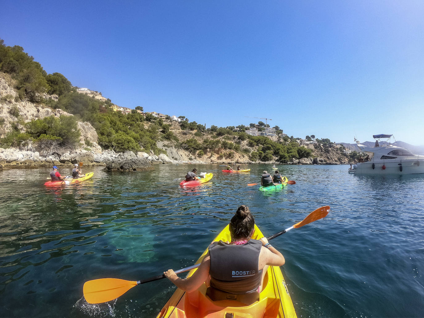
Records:
M254 295L259 299L268 266L282 266L285 259L266 237L251 239L254 226L255 219L249 208L239 206L229 224L231 242L219 241L209 245L206 256L192 276L182 279L172 269L165 271L165 276L188 293L206 282L209 285L206 294L212 300L219 300L220 295L228 293L237 297Z

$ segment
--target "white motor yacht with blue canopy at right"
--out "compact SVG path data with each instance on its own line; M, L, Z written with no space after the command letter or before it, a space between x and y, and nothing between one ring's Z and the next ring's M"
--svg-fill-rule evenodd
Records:
M416 174L424 173L424 156L415 155L405 148L390 142L393 135L373 135L376 139L374 147L357 146L366 153L365 162L353 165L355 174ZM381 142L381 139L386 139ZM394 140L394 138L393 138ZM369 156L369 159L367 158ZM368 160L368 161L367 161Z

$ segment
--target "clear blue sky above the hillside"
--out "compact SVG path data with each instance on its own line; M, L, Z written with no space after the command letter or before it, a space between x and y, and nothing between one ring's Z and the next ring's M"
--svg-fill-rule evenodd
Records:
M424 141L424 1L9 1L0 38L113 103ZM262 120L265 121L265 120Z

